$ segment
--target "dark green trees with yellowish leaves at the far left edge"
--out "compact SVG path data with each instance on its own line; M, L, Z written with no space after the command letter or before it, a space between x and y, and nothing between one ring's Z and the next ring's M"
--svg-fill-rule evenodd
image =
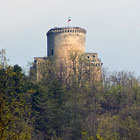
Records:
M18 65L7 65L4 50L0 55L0 139L31 140L30 89L26 76Z

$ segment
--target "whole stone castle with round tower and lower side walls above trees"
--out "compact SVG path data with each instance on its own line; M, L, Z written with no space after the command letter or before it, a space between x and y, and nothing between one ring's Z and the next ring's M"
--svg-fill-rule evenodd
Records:
M47 32L47 57L35 57L31 72L35 71L36 80L41 79L40 65L52 58L57 65L68 62L71 52L84 54L93 66L95 79L101 79L102 62L97 53L85 53L86 30L80 27L53 28Z

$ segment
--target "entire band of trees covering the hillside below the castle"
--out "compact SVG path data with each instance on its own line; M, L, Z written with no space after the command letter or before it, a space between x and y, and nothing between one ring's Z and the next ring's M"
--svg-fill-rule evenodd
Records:
M140 81L133 73L103 71L71 59L68 71L52 61L40 82L0 52L0 140L139 140Z

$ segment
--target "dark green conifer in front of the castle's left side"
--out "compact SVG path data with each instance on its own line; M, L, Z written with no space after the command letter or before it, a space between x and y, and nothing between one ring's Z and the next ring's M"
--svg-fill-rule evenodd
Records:
M40 87L32 95L35 127L43 133L44 139L60 136L63 126L65 88L59 81L50 81L48 87Z

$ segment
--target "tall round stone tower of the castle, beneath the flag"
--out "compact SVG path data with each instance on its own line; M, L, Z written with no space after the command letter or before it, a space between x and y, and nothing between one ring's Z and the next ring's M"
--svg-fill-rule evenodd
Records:
M67 58L70 51L85 53L86 30L80 27L53 28L47 32L49 57Z

